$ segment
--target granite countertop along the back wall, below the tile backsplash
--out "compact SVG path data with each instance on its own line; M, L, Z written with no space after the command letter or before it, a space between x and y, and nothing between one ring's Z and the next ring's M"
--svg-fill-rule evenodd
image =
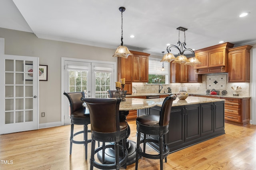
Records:
M134 94L126 94L126 97L138 97L138 96L161 96L161 95L170 95L170 94L178 94L180 92L173 93L134 93ZM189 93L190 95L200 95L200 96L214 96L214 97L225 97L225 98L250 98L250 96L233 96L233 95L210 95L205 93Z

